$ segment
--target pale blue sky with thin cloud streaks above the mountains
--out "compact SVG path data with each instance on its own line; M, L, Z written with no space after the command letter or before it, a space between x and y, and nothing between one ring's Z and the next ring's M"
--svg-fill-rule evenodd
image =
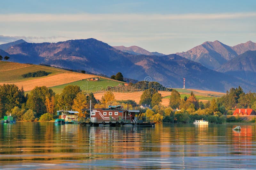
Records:
M255 0L12 0L0 9L0 44L95 38L173 54L256 42Z

